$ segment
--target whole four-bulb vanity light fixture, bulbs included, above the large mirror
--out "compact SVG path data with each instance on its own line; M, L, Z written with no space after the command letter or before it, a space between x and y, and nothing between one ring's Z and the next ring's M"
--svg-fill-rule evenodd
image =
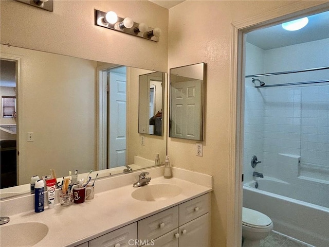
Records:
M97 9L95 9L95 25L155 42L159 41L162 32L158 27L152 28L145 23L136 23L130 17L122 18L113 11L103 12Z

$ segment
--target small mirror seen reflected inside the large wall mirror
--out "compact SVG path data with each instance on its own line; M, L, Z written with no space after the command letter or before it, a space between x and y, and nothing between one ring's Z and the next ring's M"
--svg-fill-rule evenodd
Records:
M154 72L139 76L138 133L163 135L163 95L165 73Z

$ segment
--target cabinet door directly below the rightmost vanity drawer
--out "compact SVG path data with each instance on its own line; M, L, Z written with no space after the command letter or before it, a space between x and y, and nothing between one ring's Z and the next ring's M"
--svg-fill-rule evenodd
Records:
M209 246L209 213L179 227L179 247Z

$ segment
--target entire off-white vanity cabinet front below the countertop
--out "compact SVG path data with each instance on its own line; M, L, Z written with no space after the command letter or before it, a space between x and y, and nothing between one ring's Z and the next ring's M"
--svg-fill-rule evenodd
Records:
M90 240L86 246L208 247L209 200L206 193Z

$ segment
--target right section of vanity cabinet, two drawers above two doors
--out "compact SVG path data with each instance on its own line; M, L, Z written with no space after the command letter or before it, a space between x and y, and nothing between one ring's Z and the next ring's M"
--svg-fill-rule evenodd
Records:
M178 210L178 222L171 221ZM167 211L167 212L166 212ZM209 194L197 197L161 213L138 222L138 238L140 243L147 241L142 247L206 247L209 246ZM166 215L167 217L163 216ZM169 224L163 224L167 219ZM140 222L142 222L140 224ZM148 224L143 224L148 222ZM175 226L177 227L175 228ZM172 230L160 234L165 230ZM141 229L141 227L143 227ZM162 229L162 230L161 230ZM153 234L145 235L145 232ZM156 234L155 234L156 233Z

